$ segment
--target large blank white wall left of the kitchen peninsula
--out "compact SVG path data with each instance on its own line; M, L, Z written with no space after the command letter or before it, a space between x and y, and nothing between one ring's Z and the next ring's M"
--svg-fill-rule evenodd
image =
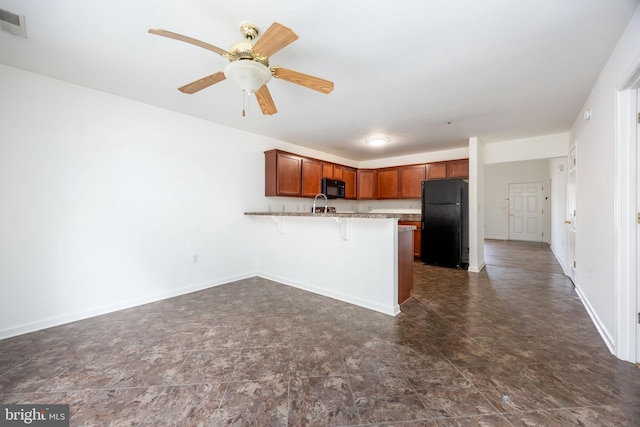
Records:
M0 93L0 338L254 275L277 142L5 66Z

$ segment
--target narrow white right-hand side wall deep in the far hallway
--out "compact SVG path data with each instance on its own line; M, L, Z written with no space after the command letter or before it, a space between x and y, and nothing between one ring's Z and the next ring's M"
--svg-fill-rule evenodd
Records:
M564 221L567 215L567 183L568 164L567 157L559 157L549 160L550 204L551 209L551 251L562 266L565 274L568 273L567 265L567 224Z

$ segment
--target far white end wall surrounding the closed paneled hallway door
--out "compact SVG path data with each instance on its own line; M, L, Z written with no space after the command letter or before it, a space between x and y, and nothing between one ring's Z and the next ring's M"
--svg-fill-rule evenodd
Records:
M540 182L543 186L543 241L551 237L549 161L547 159L485 165L485 237L509 238L509 184ZM566 200L566 198L565 198Z

